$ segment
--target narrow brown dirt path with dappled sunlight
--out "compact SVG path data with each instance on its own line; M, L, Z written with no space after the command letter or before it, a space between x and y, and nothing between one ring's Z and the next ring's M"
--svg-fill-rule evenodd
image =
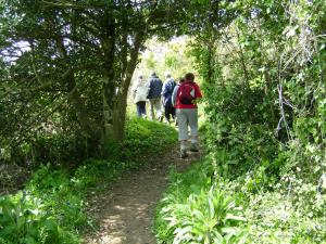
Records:
M84 243L90 244L154 244L152 223L155 205L166 188L170 165L185 169L199 154L179 159L178 149L149 159L139 171L126 174L103 194L91 201L91 215L100 221L100 230Z

